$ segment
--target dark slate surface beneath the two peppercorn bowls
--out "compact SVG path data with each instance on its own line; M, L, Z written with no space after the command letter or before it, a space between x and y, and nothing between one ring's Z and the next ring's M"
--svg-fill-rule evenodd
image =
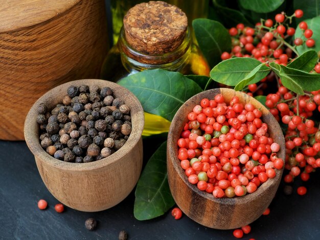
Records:
M146 154L148 156L148 153ZM101 212L66 208L57 213L58 201L45 188L26 143L0 141L0 239L118 239L125 229L129 239L236 239L232 230L203 227L170 212L149 221L133 216L134 191L120 204ZM294 189L301 183L295 182ZM313 173L306 196L285 196L280 189L270 205L271 212L252 223L243 239L320 239L320 176ZM45 199L47 210L37 201ZM243 213L245 214L245 212ZM98 221L95 231L84 227L87 218Z

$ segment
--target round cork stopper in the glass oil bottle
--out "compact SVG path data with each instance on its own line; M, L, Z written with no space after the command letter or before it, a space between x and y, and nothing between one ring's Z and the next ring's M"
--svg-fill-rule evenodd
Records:
M150 1L131 8L123 19L126 41L136 51L165 54L184 40L188 19L176 6Z

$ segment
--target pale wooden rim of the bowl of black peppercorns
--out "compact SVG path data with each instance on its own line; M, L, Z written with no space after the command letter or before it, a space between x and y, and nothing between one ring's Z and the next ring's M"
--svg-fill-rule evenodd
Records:
M39 127L36 122L36 117L38 115L37 108L40 104L43 104L43 103L45 105L50 105L50 99L51 100L55 99L56 92L64 91L66 95L66 89L68 86L71 86L71 85L80 86L81 84L84 84L87 86L97 85L100 88L110 87L111 90L113 91L113 94L116 97L119 97L119 95L121 95L122 99L127 100L125 101L125 104L127 104L130 107L131 122L134 124L132 124L131 133L129 135L129 138L125 142L124 146L120 150L111 154L110 156L102 158L98 161L93 161L93 162L84 162L84 163L65 162L65 161L54 158L53 156L49 155L45 150L42 149L39 141ZM59 101L61 103L62 98L56 101ZM55 104L52 104L52 105L54 106ZM51 106L51 108L53 106ZM132 115L132 112L134 112L133 115ZM49 164L60 170L83 172L83 171L92 171L92 170L102 169L103 167L108 166L124 158L127 154L130 153L130 151L136 146L136 144L140 140L142 136L143 128L144 128L144 111L138 98L136 98L132 92L130 92L125 87L110 81L100 80L100 79L81 79L81 80L70 81L70 82L58 85L52 88L51 90L49 90L48 92L44 93L32 105L32 107L30 108L26 116L25 125L24 125L24 134L25 134L25 140L26 140L27 146L30 149L30 151L33 153L36 159L39 159L40 161L45 162L46 164ZM36 131L34 131L34 129L36 129Z

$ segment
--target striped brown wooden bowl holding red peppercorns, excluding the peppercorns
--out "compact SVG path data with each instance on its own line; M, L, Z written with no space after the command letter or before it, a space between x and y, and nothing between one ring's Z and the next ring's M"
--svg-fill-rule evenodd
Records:
M168 180L172 196L179 208L197 223L216 229L235 229L252 223L260 217L276 194L281 181L282 170L276 170L276 177L268 179L258 189L243 197L215 198L201 191L188 181L185 171L177 158L177 140L187 123L187 115L203 98L214 99L221 93L226 102L238 96L241 103L252 103L262 111L262 121L269 126L268 133L274 142L279 143L278 157L285 159L285 141L275 117L257 100L233 89L216 88L194 95L175 114L167 145Z

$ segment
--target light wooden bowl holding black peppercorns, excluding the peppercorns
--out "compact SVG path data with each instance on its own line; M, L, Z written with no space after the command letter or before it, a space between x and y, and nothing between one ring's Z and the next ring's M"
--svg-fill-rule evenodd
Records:
M69 86L81 84L110 87L115 97L129 106L132 131L125 145L109 157L88 163L64 162L41 148L37 108L42 103L52 109L62 102ZM121 202L138 181L143 160L143 127L143 108L129 90L116 83L85 79L59 85L39 98L26 117L25 138L45 186L56 199L77 210L101 211Z

